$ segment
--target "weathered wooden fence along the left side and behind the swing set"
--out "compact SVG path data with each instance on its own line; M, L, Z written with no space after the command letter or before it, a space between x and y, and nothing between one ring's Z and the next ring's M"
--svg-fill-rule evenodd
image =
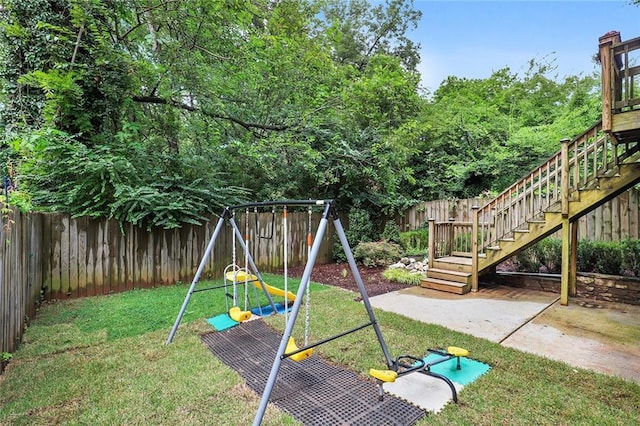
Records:
M312 214L315 235L321 212ZM70 218L63 214L21 214L2 229L0 249L0 351L12 352L40 298L59 299L109 294L133 288L191 282L218 222L179 229L139 228L114 220ZM248 222L247 222L248 217ZM238 212L240 232L249 230L249 250L263 272L284 265L282 212ZM288 214L288 265L307 257L307 212ZM317 263L332 259L333 226L327 227ZM232 227L224 225L201 276L221 278L233 260ZM236 262L244 266L236 246ZM178 307L176 307L177 309Z

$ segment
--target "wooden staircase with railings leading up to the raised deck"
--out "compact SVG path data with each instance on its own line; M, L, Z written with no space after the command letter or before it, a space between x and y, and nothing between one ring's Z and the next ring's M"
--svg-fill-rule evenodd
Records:
M603 89L602 121L563 140L549 160L474 208L471 222L429 221L423 287L475 291L479 275L560 229L568 239L564 230L571 222L640 182L640 93L633 80L640 67L631 66L628 57L635 49L640 38L625 43L619 33L600 38L603 88L611 87Z

